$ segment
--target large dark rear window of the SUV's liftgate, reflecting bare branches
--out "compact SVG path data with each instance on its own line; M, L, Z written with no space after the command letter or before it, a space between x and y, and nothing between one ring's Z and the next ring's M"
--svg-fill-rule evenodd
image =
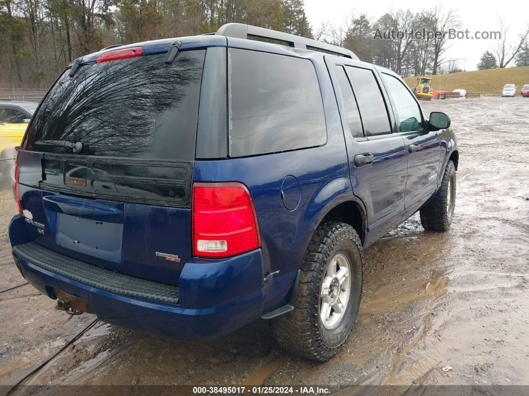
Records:
M80 154L193 160L205 50L182 51L66 70L44 99L29 132L28 149L72 153L35 144L83 143Z

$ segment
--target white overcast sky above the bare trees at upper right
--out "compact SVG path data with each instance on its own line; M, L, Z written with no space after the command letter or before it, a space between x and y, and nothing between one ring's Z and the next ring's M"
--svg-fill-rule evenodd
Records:
M305 12L313 30L317 30L322 22L344 24L345 17L352 11L357 14L366 13L372 22L388 12L391 7L404 8L417 12L435 6L436 2L428 3L419 0L406 0L400 3L390 0L353 2L351 0L305 0ZM497 17L502 16L510 25L507 39L515 39L519 32L529 23L529 1L501 0L497 5L488 1L444 0L446 10L457 11L461 20L461 30L468 29L473 35L476 31L498 31ZM466 70L476 70L481 54L495 45L494 40L449 40L450 49L446 58L459 59L459 66ZM514 66L514 63L508 66Z

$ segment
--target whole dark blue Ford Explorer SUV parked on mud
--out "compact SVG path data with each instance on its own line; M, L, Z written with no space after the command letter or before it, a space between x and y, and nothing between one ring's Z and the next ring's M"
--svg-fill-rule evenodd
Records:
M72 62L17 154L15 263L69 314L184 340L270 319L325 361L362 249L417 211L450 227L458 148L399 76L259 27Z

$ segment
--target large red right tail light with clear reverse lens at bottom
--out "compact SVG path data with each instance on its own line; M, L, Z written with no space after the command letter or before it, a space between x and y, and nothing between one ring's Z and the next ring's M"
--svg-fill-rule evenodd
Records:
M256 209L241 183L194 183L193 254L229 257L261 246Z

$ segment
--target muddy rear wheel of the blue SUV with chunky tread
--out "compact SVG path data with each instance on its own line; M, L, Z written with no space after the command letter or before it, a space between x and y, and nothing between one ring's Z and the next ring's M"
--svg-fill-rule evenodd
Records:
M354 228L318 227L302 263L296 308L270 321L279 345L324 362L351 333L362 296L363 254Z

